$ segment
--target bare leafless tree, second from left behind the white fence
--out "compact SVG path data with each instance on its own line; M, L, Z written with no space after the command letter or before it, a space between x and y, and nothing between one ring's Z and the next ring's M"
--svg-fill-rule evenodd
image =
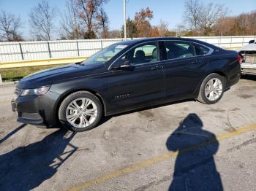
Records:
M53 35L53 20L56 17L56 8L50 7L48 2L37 4L29 14L31 32L37 39L50 40Z

